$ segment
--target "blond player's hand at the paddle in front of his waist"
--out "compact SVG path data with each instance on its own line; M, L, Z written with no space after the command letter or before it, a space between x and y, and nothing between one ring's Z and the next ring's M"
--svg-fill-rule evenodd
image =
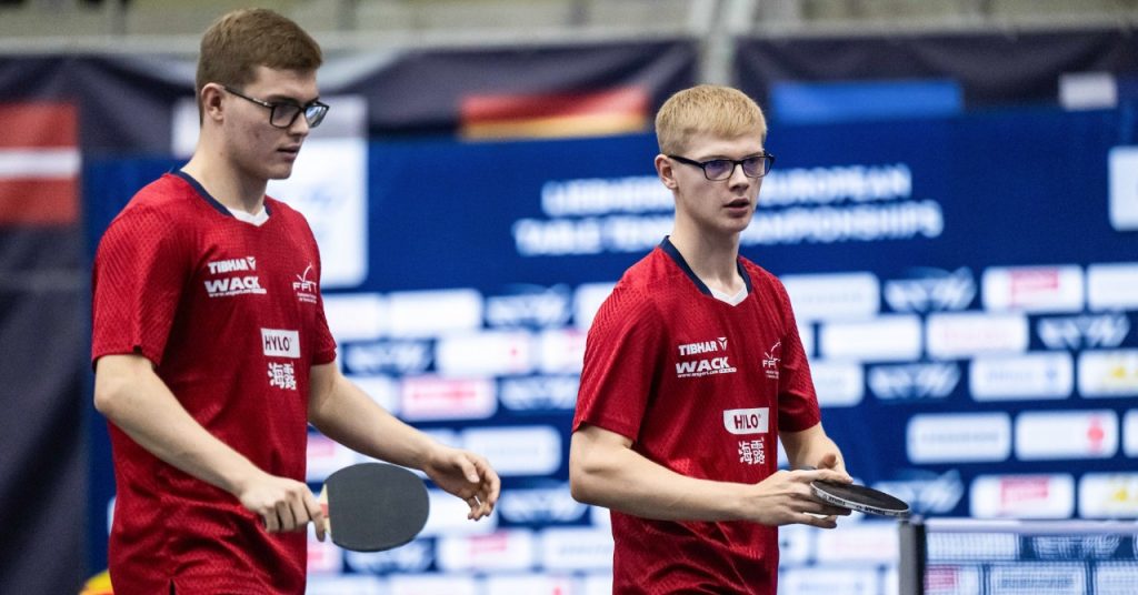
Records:
M838 517L848 515L850 511L814 496L810 484L819 479L842 484L850 481L846 472L833 469L778 471L758 484L744 487L745 517L762 524L798 523L833 529L838 526Z

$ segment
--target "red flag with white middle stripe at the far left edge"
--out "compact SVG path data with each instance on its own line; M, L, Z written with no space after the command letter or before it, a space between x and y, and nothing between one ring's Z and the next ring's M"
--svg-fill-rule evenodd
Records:
M79 116L69 104L0 104L0 225L79 221Z

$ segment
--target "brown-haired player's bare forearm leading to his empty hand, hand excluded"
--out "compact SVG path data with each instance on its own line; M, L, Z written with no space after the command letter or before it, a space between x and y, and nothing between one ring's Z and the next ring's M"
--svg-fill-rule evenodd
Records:
M308 421L324 436L368 456L423 469L436 443L380 407L343 375L310 403Z

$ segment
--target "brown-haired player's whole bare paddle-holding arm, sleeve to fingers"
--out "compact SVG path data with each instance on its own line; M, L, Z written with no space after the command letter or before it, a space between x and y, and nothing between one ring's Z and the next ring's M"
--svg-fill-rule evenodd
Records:
M166 463L234 495L269 531L297 530L323 513L302 481L271 476L206 431L140 355L96 363L94 407Z

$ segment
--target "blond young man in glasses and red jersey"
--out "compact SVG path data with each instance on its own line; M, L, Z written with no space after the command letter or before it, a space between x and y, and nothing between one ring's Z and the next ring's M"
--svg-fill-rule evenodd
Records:
M774 595L777 527L835 527L849 511L810 482L851 479L785 289L739 255L774 162L766 121L742 92L701 85L655 129L675 226L593 321L570 487L612 511L613 593ZM798 470L777 470L778 439Z

